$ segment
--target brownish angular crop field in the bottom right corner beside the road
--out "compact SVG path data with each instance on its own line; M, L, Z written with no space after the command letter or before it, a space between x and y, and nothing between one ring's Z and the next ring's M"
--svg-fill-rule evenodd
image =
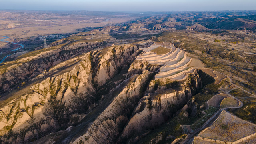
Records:
M198 136L224 142L234 142L256 132L256 125L222 111L217 120Z

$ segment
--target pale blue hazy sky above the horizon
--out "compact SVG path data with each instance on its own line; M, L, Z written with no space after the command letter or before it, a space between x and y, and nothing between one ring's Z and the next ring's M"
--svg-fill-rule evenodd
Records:
M0 0L0 9L101 11L255 10L256 0Z

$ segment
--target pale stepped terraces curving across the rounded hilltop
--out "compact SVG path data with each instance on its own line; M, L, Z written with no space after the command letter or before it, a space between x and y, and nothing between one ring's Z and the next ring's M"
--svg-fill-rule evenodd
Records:
M159 47L164 46L169 49L164 54L157 54ZM156 78L168 78L171 80L184 80L194 69L189 68L192 58L188 57L184 50L176 48L168 42L155 43L153 46L143 48L144 53L138 56L136 60L145 60L152 65L160 65L160 71L156 74ZM156 51L156 53L155 53Z

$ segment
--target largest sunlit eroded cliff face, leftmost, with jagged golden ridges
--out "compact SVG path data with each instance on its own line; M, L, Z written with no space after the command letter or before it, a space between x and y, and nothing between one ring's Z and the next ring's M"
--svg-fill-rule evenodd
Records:
M106 54L89 52L70 72L34 84L30 94L0 109L0 140L25 143L81 121L101 98L96 90L129 65L137 49L126 45L110 47Z

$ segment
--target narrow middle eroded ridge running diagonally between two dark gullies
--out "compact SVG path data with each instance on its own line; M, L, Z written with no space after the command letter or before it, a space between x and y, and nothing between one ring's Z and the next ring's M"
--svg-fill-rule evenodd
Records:
M128 122L129 116L138 103L141 86L147 84L151 72L144 71L136 80L126 86L113 102L98 116L88 128L87 132L73 143L84 142L88 144L114 143L122 128Z

